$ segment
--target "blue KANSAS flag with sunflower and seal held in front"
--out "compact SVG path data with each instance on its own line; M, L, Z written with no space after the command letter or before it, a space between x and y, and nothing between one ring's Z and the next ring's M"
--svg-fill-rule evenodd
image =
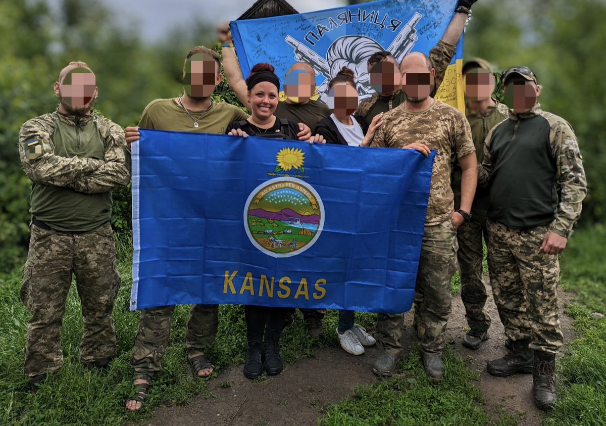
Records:
M435 153L139 132L131 309L410 309Z

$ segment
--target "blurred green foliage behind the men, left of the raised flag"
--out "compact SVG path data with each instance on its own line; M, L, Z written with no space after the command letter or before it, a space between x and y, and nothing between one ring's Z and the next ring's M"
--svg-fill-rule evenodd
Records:
M7 272L22 262L29 238L31 182L19 162L19 128L56 109L59 71L70 61L85 61L97 77L96 110L134 126L151 100L182 93L185 55L197 44L210 46L213 32L192 22L193 31L175 30L151 45L135 30L115 25L110 12L91 0L63 0L56 12L39 0L0 0L0 10L0 272ZM215 100L239 104L225 81ZM113 225L129 229L130 186L113 196Z

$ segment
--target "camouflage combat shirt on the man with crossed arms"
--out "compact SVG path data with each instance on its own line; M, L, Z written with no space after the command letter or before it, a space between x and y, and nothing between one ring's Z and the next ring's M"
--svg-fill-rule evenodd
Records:
M19 156L32 180L30 213L57 231L90 231L110 220L112 194L130 181L124 130L100 115L58 111L26 121Z

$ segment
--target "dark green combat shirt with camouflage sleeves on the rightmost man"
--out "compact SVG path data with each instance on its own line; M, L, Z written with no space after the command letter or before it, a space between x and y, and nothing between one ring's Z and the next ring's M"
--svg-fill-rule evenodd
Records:
M525 113L510 110L490 130L478 179L490 189L488 218L516 229L550 225L566 238L587 195L572 127L540 104Z

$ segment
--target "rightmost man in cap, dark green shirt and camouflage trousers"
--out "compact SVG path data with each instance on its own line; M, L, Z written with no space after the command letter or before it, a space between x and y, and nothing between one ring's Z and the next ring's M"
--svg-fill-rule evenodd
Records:
M556 353L564 344L558 254L581 214L587 181L570 124L536 102L541 87L534 73L512 68L503 81L513 109L485 140L480 176L490 189L490 278L513 350L487 370L501 377L533 373L534 404L547 410L556 399Z

